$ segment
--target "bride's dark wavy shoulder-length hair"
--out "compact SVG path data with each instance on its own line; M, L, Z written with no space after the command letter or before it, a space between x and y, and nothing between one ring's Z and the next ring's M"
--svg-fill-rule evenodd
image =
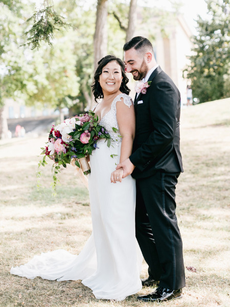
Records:
M97 102L97 99L101 99L101 98L104 97L101 85L99 83L99 77L102 74L103 67L105 67L105 65L107 65L111 61L116 61L120 65L120 67L121 67L121 72L122 72L123 79L122 79L120 91L122 93L124 93L124 94L127 94L127 95L130 92L128 86L126 85L128 83L128 81L129 81L129 79L126 77L124 62L120 58L117 58L114 55L106 55L105 57L103 57L98 62L98 68L96 69L96 72L94 74L94 82L91 85L96 102Z

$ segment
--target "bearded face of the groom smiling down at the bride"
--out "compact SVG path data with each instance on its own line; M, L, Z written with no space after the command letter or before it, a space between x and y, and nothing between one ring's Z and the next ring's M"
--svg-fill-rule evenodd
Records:
M124 52L124 62L127 73L133 75L134 80L142 80L148 73L148 66L144 55L131 48Z

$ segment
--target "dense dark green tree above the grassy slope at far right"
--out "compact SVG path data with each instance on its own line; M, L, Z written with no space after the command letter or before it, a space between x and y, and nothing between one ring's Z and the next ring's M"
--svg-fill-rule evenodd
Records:
M229 0L206 0L209 18L197 19L194 48L183 77L191 80L193 96L200 102L230 96Z

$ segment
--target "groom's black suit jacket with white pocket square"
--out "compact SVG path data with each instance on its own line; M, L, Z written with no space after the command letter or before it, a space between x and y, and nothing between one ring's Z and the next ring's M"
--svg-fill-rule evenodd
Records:
M180 153L180 93L172 79L158 66L146 94L134 100L136 128L130 161L133 178L144 178L157 170L183 171ZM142 102L143 103L140 103Z

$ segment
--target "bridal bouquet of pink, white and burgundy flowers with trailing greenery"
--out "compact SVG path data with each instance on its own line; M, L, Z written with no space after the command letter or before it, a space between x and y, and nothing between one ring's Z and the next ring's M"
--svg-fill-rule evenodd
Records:
M57 126L52 126L49 135L49 141L42 149L43 158L38 163L38 168L45 166L48 157L54 161L53 169L53 186L56 192L57 173L60 166L66 167L66 164L77 165L82 168L85 175L90 173L90 167L85 156L91 155L93 150L97 148L97 140L105 139L107 146L110 146L110 135L105 128L98 123L98 116L89 111L64 120ZM79 160L79 161L78 161ZM40 178L41 172L37 172Z

